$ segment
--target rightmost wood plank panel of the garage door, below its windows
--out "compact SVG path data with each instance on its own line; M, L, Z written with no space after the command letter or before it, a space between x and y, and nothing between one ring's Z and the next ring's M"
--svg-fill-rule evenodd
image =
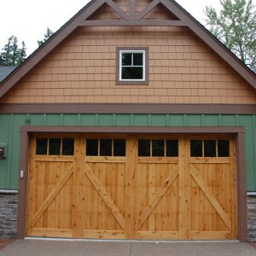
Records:
M236 238L235 142L221 139L230 142L229 157L189 158L190 239Z

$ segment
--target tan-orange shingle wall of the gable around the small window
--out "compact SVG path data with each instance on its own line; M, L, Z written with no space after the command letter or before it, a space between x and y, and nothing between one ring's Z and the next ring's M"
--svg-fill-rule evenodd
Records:
M117 3L127 10L123 0ZM148 17L159 15L167 18L162 7ZM114 17L119 18L103 6L90 19ZM116 84L116 48L121 46L148 47L148 85ZM3 102L255 104L256 92L186 28L83 27L34 67Z

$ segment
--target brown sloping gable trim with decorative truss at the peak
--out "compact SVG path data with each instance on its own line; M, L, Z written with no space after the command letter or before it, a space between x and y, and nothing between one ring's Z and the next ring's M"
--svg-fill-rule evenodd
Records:
M128 1L128 0L127 0ZM119 5L113 0L92 0L84 6L71 20L68 20L64 26L55 32L55 34L46 41L40 48L35 50L26 61L20 64L6 79L3 80L0 86L0 98L5 95L32 67L35 67L52 49L61 43L62 40L73 32L79 26L186 26L201 38L220 58L232 67L236 73L240 74L248 84L256 89L256 74L253 73L236 55L234 55L224 44L221 44L212 33L201 25L194 17L183 9L174 0L153 0L139 14L136 14L136 0L130 0L130 13L125 13L119 8ZM103 4L108 4L119 15L122 20L90 20L96 10L100 9ZM158 4L162 4L168 9L172 15L175 15L178 20L143 20L143 17L154 9Z

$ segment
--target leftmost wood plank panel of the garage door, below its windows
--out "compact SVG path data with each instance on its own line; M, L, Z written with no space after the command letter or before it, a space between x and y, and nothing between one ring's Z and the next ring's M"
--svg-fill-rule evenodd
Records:
M35 140L32 141L32 152ZM27 210L28 236L71 236L73 157L32 154ZM62 235L63 236L63 235Z

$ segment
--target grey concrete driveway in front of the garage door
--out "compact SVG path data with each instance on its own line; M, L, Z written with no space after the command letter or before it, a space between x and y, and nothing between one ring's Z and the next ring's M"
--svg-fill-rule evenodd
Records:
M1 256L255 256L256 249L239 241L145 242L145 241L46 241L16 240Z

